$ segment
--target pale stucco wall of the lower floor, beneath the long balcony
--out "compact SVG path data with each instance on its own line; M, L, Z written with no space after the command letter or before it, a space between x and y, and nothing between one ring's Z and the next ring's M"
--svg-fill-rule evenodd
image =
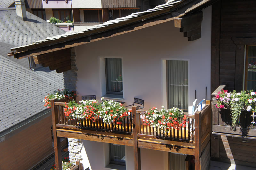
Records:
M109 163L108 143L82 140L84 147L81 161L84 169L109 170L105 166ZM168 170L168 152L141 149L141 170ZM133 147L125 146L126 170L134 169Z

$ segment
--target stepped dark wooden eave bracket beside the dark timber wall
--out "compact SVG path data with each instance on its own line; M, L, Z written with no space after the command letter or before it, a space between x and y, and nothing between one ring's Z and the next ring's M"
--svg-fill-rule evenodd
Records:
M202 20L203 12L201 11L174 19L174 27L180 28L180 32L184 37L188 37L188 41L194 41L201 38Z

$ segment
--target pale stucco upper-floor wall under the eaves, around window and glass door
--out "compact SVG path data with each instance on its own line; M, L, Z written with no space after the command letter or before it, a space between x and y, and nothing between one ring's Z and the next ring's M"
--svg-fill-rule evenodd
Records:
M104 95L102 58L122 58L125 104L145 100L145 109L166 106L165 60L188 60L189 110L195 100L210 100L211 6L204 9L201 38L188 42L173 21L76 47L78 100L82 95ZM103 60L104 61L104 60ZM164 71L163 71L164 70ZM103 72L103 73L102 73ZM102 75L103 74L103 75ZM103 93L102 93L103 91Z

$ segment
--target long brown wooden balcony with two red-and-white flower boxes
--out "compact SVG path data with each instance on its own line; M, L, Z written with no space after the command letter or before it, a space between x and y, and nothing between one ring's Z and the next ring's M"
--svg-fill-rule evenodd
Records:
M140 119L140 113L144 111L137 110L138 107L135 106L132 107L132 112L128 113L129 116L125 121L121 125L116 125L106 124L102 119L95 122L87 118L70 120L64 116L65 103L57 102L55 99L51 101L51 104L56 151L58 148L57 138L68 137L133 146L134 157L138 158L138 162L140 162L140 148L147 148L194 155L199 163L202 151L210 141L210 101L207 101L207 105L202 111L196 112L195 115L187 115L186 128L172 129L169 133L164 132L164 129L144 126Z

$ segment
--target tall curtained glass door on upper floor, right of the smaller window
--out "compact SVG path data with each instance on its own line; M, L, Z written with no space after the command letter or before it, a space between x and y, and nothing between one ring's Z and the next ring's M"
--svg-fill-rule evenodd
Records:
M188 61L167 60L167 104L188 111Z

